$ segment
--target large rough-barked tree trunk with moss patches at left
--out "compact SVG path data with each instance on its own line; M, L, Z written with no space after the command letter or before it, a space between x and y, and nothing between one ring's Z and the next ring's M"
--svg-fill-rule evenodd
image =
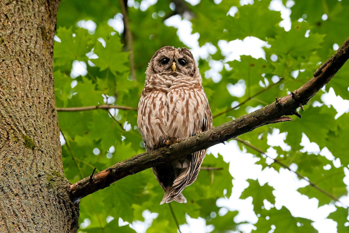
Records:
M59 0L0 0L0 232L76 232L54 100Z

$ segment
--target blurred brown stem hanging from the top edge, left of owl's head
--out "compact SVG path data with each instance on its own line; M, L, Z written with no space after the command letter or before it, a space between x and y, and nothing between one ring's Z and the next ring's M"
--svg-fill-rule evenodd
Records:
M136 72L135 72L134 57L133 57L132 33L128 24L128 13L127 13L124 0L119 0L119 3L122 10L122 15L124 16L122 20L124 21L124 33L126 34L126 39L127 39L127 47L129 52L132 80L136 80Z

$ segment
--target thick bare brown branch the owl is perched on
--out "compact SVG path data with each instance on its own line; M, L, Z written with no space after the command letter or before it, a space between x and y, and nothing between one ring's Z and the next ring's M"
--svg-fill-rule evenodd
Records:
M144 152L135 155L127 160L95 174L86 177L79 182L70 185L70 198L77 201L93 192L108 187L113 182L126 176L141 172L142 170L161 165L164 161L177 159L180 156L189 155L195 151L206 149L210 146L222 143L241 134L250 132L259 126L280 122L284 116L294 115L299 104L305 105L310 98L315 95L335 73L343 66L349 58L349 38L322 65L310 81L302 87L285 97L277 99L275 102L265 107L241 116L234 121L224 123L209 131L196 134L193 137L181 140L179 143L171 144L154 151ZM286 120L287 118L285 118ZM282 120L281 120L282 121Z

